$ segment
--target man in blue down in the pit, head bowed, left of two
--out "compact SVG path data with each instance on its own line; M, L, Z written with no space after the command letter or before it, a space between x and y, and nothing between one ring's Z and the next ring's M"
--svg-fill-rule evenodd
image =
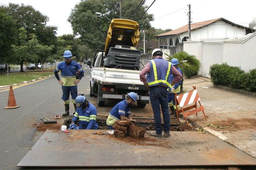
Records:
M76 97L75 102L77 109L72 119L71 125L79 120L79 129L98 129L99 126L96 122L96 107L81 95Z

